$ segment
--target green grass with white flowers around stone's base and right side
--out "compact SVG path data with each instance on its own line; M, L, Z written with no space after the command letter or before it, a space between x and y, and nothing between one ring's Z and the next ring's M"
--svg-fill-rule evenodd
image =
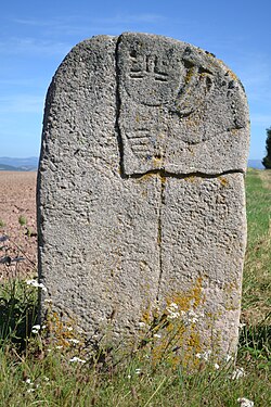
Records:
M55 314L47 327L35 327L37 289L13 280L0 291L0 406L222 407L240 406L240 397L270 406L270 188L271 171L248 171L245 327L235 363L218 367L203 358L189 371L170 355L153 364L152 346L112 351L106 341L89 353Z

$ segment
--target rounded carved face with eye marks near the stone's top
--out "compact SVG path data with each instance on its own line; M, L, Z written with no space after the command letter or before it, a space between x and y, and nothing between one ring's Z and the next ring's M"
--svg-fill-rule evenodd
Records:
M202 62L189 47L157 48L152 38L144 42L124 38L118 52L120 86L136 103L188 115L212 89L211 69Z

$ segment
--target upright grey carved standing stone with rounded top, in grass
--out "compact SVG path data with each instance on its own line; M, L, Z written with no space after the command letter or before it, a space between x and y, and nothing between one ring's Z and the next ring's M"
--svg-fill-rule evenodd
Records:
M212 54L133 33L76 46L48 92L38 177L54 308L121 340L173 302L199 316L195 351L234 352L248 138L244 89Z

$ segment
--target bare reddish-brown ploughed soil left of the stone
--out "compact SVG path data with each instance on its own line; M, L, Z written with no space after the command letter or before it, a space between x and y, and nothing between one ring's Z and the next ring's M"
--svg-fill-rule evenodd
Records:
M0 171L0 281L37 275L36 179L37 173Z

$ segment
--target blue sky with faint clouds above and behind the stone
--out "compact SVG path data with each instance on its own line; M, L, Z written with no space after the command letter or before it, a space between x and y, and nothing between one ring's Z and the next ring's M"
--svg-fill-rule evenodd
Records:
M141 31L190 42L230 66L248 97L250 158L262 158L271 126L270 18L270 0L3 0L0 156L39 155L46 92L76 43Z

